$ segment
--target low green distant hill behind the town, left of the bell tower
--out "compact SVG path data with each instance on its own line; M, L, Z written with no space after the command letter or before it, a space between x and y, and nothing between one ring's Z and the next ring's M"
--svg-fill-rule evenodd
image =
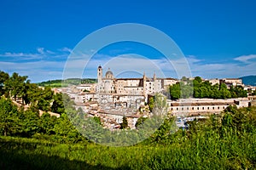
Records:
M49 86L52 88L66 87L68 84L79 85L81 83L96 83L94 78L70 78L62 82L62 80L49 80L47 82L38 82L38 86Z

